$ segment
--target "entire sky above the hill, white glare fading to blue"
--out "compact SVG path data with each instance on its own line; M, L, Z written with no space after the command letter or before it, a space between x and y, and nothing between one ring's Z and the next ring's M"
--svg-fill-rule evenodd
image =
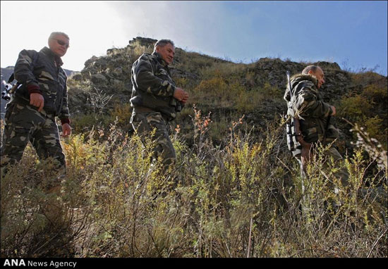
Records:
M47 45L53 31L71 37L63 56L70 70L142 36L236 62L378 65L387 75L387 1L1 1L1 67L21 49Z

